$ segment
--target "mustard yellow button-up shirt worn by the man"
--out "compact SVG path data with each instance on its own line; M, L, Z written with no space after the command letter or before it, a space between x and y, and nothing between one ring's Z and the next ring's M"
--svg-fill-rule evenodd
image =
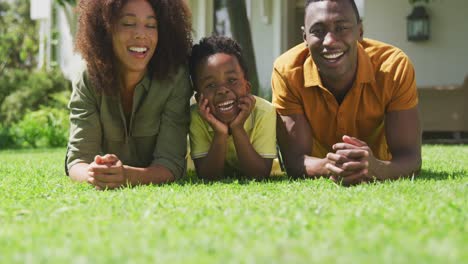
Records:
M275 61L271 85L280 115L306 116L313 138L309 155L319 158L349 135L367 142L377 158L390 160L385 115L418 104L409 58L398 48L370 39L358 44L357 76L340 105L323 86L304 43Z

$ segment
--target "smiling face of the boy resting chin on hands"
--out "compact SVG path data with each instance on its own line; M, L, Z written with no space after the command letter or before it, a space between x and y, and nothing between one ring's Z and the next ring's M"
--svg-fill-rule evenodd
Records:
M240 112L238 99L250 93L250 83L237 58L216 53L196 67L196 87L208 99L210 112L223 123L230 123Z

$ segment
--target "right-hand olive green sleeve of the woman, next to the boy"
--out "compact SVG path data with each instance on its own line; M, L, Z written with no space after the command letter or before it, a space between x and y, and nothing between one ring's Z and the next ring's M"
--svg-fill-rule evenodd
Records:
M190 121L189 101L192 90L188 71L184 68L174 77L171 95L164 106L161 125L153 153L152 165L161 165L176 179L185 172L187 133Z

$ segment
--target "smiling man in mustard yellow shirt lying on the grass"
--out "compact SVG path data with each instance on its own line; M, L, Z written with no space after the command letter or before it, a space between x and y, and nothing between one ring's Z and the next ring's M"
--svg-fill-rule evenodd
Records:
M399 49L363 39L354 0L308 0L300 44L272 74L278 141L291 176L344 185L421 167L414 69Z

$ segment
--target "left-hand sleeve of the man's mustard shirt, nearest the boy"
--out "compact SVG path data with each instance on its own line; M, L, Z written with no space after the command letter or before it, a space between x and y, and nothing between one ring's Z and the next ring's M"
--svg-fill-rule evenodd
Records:
M272 102L280 115L303 114L299 95L295 94L278 69L273 68L271 76Z

